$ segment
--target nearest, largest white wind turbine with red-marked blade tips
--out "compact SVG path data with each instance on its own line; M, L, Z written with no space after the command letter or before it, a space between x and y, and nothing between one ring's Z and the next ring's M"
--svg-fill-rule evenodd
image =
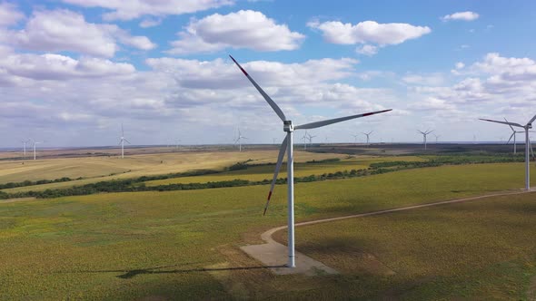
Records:
M295 130L308 130L308 129L315 129L320 128L325 125L341 122L341 121L348 121L355 118L370 116L377 113L382 112L389 112L392 109L389 110L383 110L378 112L367 112L364 114L358 114L358 115L352 115L352 116L346 116L341 118L334 118L326 121L315 121L311 123L306 123L302 125L293 125L293 121L290 121L287 119L287 117L284 115L283 111L277 106L275 102L273 102L272 98L266 94L266 92L263 91L263 88L261 88L255 81L253 81L253 78L243 70L242 66L236 62L233 58L233 56L229 55L234 63L240 68L242 73L247 77L247 79L253 83L253 86L257 89L258 92L263 95L263 98L268 104L272 107L273 112L279 116L281 121L283 121L283 131L286 131L286 137L283 140L283 143L281 144L281 148L279 149L279 155L277 157L277 164L275 165L275 170L273 172L273 180L272 185L270 187L270 192L268 193L268 199L266 200L266 205L264 206L264 212L263 214L266 214L266 209L268 209L268 205L270 203L270 198L272 197L273 192L273 186L275 185L275 181L277 180L277 175L279 173L279 170L281 168L281 165L283 164L283 157L285 152L287 152L287 199L288 199L288 264L287 267L295 267L294 262L294 154L293 154L293 131Z

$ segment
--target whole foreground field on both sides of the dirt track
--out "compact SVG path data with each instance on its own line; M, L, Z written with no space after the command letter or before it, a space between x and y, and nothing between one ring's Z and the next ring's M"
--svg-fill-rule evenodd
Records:
M333 158L333 154L327 158ZM536 177L536 173L532 176ZM498 163L297 183L296 221L520 189L522 181L521 163ZM0 249L8 250L0 260L0 296L6 299L327 297L341 296L337 294L352 287L349 296L427 298L451 291L455 294L462 287L460 296L471 297L479 296L485 287L495 290L504 287L493 286L493 281L502 278L490 275L503 272L511 275L519 270L521 282L507 287L511 292L508 296L515 297L524 296L530 277L536 275L533 268L536 262L528 246L531 239L524 245L520 242L521 237L531 238L535 232L531 218L527 218L535 211L531 207L531 199L535 198L526 194L297 228L298 250L325 260L342 274L276 277L238 249L260 243L264 230L286 222L284 185L276 187L273 204L267 216L262 216L267 190L268 186L259 185L0 201ZM510 203L512 207L506 206ZM463 207L466 205L473 207ZM479 206L486 214L478 213ZM371 222L367 224L367 221ZM433 222L425 227L425 221ZM362 224L344 226L352 222ZM343 226L337 226L339 223ZM349 227L350 232L344 232ZM459 233L461 229L470 230ZM378 238L374 237L375 233ZM403 234L409 235L405 237L407 240L402 239ZM487 240L482 248L495 248L501 243L509 246L494 249L498 254L492 256L487 256L492 250L481 250L479 257L476 242L470 243L467 249L462 246L462 242L475 235L482 236L475 240ZM385 245L382 239L386 240ZM319 248L323 241L326 241L325 248ZM412 248L412 245L416 246ZM468 253L460 253L460 257L448 253L456 247L459 252ZM427 250L429 254L424 254ZM341 260L330 259L330 252L342 253ZM368 267L361 268L359 262L352 262L359 268L342 267L352 258L358 261L364 257L363 252L375 257L381 263L380 269L385 266L395 274L369 273ZM426 257L420 260L423 254ZM469 262L472 258L476 258L473 266ZM442 259L451 261L437 263ZM436 267L429 267L432 264ZM452 270L442 271L441 267ZM469 267L474 267L472 274L463 274L463 268ZM479 280L478 271L488 273L489 279ZM518 280L515 277L511 279ZM470 284L481 281L481 286L465 287L467 278L471 278ZM390 285L392 290L385 291ZM503 296L495 295L494 291L490 294Z

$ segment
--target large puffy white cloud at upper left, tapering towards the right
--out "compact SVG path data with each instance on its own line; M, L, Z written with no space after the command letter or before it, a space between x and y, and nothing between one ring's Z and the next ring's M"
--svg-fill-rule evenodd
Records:
M137 49L155 47L145 36L132 36L114 24L93 24L84 15L69 10L35 11L25 28L12 33L11 44L37 51L74 51L112 57L119 50L116 44Z

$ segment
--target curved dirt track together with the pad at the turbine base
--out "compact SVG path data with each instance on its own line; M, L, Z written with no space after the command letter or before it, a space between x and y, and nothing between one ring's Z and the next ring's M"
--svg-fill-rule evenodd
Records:
M491 197L501 197L501 196L508 196L508 195L523 194L523 193L531 193L533 191L534 190L531 190L531 191L508 190L504 192L486 194L486 195L481 195L481 196L471 197L471 198L443 200L443 201L422 204L422 205L412 205L412 206L406 206L406 207L401 207L401 208L396 208L396 209L384 209L384 210L378 210L378 211L372 211L372 212L366 212L366 213L360 213L360 214L352 214L349 216L338 217L338 218L323 218L323 219L305 221L301 223L296 223L294 226L302 227L302 226L307 226L307 225L326 223L326 222L337 221L337 220L348 219L348 218L363 218L363 217L369 217L369 216L404 211L404 210L420 209L420 208L425 208L425 207L441 206L441 205L453 204L453 203L461 203L461 202L466 202L466 201L471 201L471 200L476 200L476 199L486 199L486 198L491 198ZM337 271L335 271L333 268L326 267L325 265L323 265L323 263L318 262L311 257L307 257L298 251L295 252L296 267L295 268L283 267L284 264L286 263L286 258L287 258L286 257L287 246L284 246L283 244L278 243L277 241L273 239L272 236L273 236L273 233L283 230L285 228L287 228L287 226L280 226L276 228L271 228L263 232L263 234L261 234L261 238L263 239L263 241L266 242L265 244L245 246L245 247L242 247L243 251L249 254L251 257L257 260L260 260L266 266L272 266L272 267L281 266L281 267L272 268L275 274L301 273L301 274L315 275L315 274L318 274L317 272L319 270L323 271L323 273L328 273L328 274L337 273Z

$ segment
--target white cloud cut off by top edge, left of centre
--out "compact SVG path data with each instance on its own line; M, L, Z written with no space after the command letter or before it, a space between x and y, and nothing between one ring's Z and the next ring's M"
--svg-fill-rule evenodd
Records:
M132 20L142 15L183 15L204 11L223 5L233 5L233 0L63 0L71 5L103 7L112 12L103 15L104 20Z

